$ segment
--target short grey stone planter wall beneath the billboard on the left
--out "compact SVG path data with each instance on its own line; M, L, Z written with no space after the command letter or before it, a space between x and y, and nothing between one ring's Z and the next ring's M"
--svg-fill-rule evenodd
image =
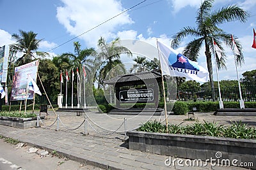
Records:
M41 119L44 117L40 117ZM0 117L0 125L8 125L25 129L29 127L36 127L36 117L33 118L16 118L16 117Z

